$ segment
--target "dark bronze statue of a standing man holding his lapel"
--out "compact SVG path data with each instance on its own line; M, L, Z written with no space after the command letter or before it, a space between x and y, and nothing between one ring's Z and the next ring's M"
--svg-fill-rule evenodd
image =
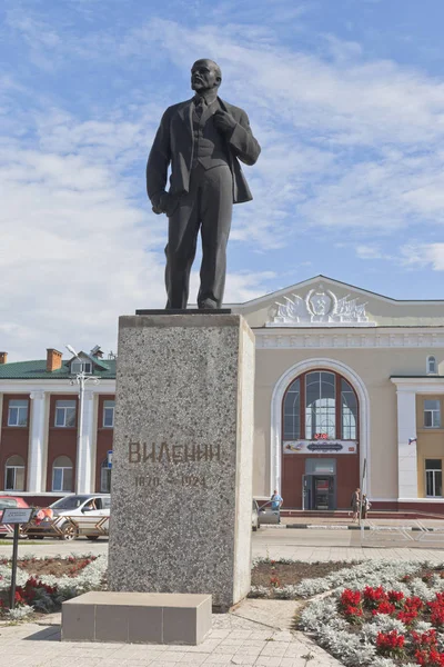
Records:
M152 210L169 218L167 308L186 308L199 230L202 266L198 306L221 307L233 203L252 199L239 160L254 165L261 147L245 111L218 97L221 81L215 62L194 62L191 88L195 94L167 109L148 158L147 191Z

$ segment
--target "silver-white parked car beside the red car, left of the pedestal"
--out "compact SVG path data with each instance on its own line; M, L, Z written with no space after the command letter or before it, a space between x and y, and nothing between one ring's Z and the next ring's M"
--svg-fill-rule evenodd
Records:
M105 494L64 496L36 514L27 535L31 539L69 540L81 535L98 539L108 535L110 506L111 496Z

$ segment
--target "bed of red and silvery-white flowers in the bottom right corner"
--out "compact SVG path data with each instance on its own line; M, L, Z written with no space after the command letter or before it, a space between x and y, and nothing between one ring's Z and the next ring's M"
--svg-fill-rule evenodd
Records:
M296 588L323 593L299 625L344 665L444 666L444 566L371 561Z

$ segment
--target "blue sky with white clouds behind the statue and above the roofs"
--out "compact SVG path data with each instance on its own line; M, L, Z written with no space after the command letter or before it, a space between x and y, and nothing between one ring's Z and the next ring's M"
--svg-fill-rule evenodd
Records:
M10 360L115 349L119 315L164 306L167 219L144 167L203 57L262 146L225 300L317 273L444 298L441 0L3 0L0 17Z

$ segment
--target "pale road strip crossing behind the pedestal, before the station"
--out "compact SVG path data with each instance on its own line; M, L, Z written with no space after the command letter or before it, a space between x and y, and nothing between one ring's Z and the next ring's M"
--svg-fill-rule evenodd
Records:
M413 534L412 534L413 535ZM361 542L359 530L337 529L285 529L261 528L253 532L252 556L278 558L292 558L304 561L315 560L363 560L374 558L396 559L432 559L444 561L444 536L440 541L421 542L412 541L405 536L383 534L375 541L366 534ZM418 537L415 535L415 537ZM105 554L108 539L100 538L89 541L79 538L72 541L44 539L19 542L19 555L32 554L37 557L69 555L69 554ZM12 539L0 544L0 557L12 555Z

